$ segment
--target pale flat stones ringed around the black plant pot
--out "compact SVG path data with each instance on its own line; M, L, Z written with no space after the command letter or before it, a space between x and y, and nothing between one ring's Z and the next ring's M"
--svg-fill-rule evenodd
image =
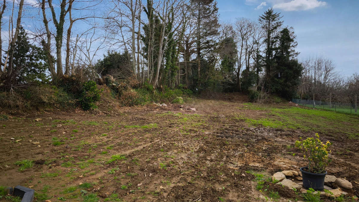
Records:
M291 178L291 179L287 179L287 178ZM303 186L302 173L295 170L284 170L281 172L276 172L272 176L272 180L279 180L277 184L284 185L288 189L295 188L296 190L299 190L300 193L307 193L308 190L302 187ZM321 196L339 197L342 194L346 196L348 195L348 193L344 192L342 189L345 190L353 189L353 185L348 180L344 178L336 178L333 175L326 175L324 183L326 184L324 186L324 189L329 190L332 194L325 193L324 191L322 191L320 194Z

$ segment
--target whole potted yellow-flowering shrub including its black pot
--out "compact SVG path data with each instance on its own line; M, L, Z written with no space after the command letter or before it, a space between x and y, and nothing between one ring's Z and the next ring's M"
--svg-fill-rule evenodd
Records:
M295 147L299 148L304 159L307 159L309 164L307 167L301 167L303 177L303 187L313 188L314 190L323 190L324 178L327 174L325 168L330 163L328 146L331 145L329 141L323 143L319 139L318 133L315 134L316 138L307 138L303 141L295 141ZM300 138L302 139L302 138Z

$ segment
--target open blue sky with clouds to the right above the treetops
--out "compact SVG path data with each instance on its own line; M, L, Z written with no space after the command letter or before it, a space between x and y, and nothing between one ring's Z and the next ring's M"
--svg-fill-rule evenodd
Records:
M270 7L283 15L284 26L294 27L299 59L321 55L344 76L359 73L358 0L218 0L224 22L256 20Z

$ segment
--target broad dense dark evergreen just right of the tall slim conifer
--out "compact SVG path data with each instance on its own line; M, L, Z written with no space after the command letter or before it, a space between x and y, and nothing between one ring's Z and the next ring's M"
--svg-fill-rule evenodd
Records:
M295 36L291 35L293 32L291 33L288 28L280 32L279 46L274 56L277 65L271 78L272 92L288 99L296 96L303 70L296 59L299 53L294 50L297 46Z

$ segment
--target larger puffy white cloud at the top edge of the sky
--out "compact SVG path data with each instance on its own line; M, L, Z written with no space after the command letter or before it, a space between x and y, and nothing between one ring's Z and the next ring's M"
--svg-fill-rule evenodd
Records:
M274 4L274 9L281 9L285 11L294 11L294 10L309 10L321 6L325 6L327 3L325 1L318 0L292 0L289 2Z

